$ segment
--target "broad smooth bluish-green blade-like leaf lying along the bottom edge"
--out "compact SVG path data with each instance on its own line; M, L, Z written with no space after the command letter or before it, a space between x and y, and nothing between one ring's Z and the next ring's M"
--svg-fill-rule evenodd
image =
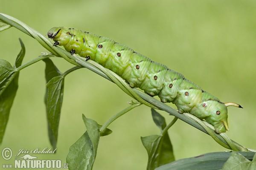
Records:
M253 159L253 152L239 153L249 160ZM230 155L230 152L205 153L200 156L173 161L156 168L156 170L221 170Z

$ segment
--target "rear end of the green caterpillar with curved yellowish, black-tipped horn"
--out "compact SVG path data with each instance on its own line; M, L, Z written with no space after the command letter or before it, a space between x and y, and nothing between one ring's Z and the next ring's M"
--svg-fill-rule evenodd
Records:
M224 133L228 129L227 123L227 107L236 106L242 108L241 105L238 105L233 102L221 103L218 101L210 101L209 113L210 115L205 118L205 120L214 126L216 133Z

